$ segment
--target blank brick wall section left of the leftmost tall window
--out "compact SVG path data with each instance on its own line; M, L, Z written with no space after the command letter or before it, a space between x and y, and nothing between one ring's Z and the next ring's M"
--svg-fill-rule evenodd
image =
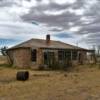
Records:
M19 48L19 49L11 50L9 54L13 61L13 66L19 68L30 67L31 53L29 48Z

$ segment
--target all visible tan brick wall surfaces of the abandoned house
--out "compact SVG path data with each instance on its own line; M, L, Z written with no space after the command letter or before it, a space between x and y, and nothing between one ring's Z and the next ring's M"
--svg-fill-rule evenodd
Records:
M37 48L37 60L36 62L31 61L31 49L29 48L19 48L15 50L9 51L9 56L11 60L13 61L13 66L19 67L19 68L29 68L32 69L38 69L39 65L44 64L44 52L46 49L39 49ZM58 61L58 50L49 50L54 52L55 54L55 61ZM86 61L86 52L85 51L79 51L81 53L80 60L84 64ZM72 61L74 65L77 65L79 63L79 58L77 60Z

